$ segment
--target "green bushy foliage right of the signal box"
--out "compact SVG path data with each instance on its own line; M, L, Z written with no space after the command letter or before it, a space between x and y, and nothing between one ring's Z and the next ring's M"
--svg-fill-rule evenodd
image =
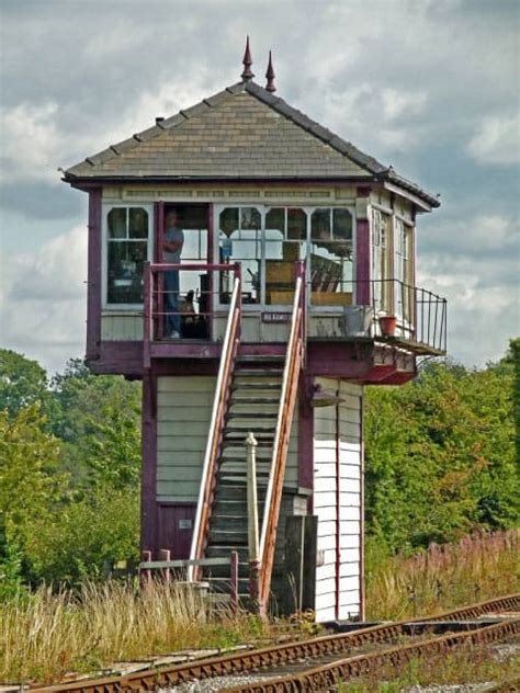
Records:
M518 522L513 373L431 364L366 395L366 512L391 552Z

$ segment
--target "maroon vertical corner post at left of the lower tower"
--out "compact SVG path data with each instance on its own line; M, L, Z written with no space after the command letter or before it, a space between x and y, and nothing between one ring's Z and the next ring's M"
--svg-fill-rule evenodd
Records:
M143 378L142 477L140 477L140 548L157 550L157 378Z

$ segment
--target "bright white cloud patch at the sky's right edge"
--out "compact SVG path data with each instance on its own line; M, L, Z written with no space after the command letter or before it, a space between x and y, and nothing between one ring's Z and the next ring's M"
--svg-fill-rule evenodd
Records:
M519 163L519 115L494 115L482 118L467 145L467 151L478 163Z

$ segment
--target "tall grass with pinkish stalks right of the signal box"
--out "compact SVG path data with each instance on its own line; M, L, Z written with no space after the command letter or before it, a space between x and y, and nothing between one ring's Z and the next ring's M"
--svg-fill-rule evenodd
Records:
M370 618L406 618L512 593L520 586L520 530L432 544L380 561L366 576Z

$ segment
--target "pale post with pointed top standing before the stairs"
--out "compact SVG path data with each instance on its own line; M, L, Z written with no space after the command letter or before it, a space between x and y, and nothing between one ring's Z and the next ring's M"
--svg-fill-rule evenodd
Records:
M249 598L251 611L261 612L262 609L258 602L260 539L258 530L257 445L255 435L250 431L246 438Z

